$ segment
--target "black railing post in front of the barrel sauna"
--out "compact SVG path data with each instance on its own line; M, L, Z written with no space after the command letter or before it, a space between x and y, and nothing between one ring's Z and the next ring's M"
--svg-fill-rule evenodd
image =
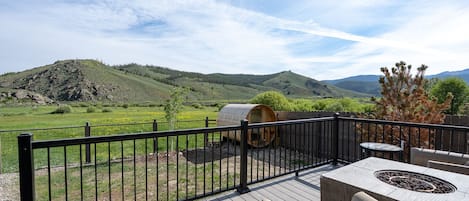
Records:
M249 192L248 188L248 120L241 120L241 139L240 139L240 175L238 193Z

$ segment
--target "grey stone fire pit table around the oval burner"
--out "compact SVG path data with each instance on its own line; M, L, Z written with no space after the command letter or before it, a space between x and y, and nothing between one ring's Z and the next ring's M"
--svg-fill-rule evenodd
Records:
M382 170L402 170L440 178L451 183L451 193L424 193L384 183L375 177ZM437 169L370 157L321 176L321 200L350 200L364 191L378 200L466 200L469 201L469 176Z

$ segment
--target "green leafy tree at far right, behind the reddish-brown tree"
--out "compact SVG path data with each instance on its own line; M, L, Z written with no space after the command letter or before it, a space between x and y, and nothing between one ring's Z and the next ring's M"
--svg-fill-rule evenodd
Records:
M457 114L469 96L469 87L463 79L450 77L438 81L431 89L431 94L439 103L444 102L448 94L452 95L450 108L446 112Z

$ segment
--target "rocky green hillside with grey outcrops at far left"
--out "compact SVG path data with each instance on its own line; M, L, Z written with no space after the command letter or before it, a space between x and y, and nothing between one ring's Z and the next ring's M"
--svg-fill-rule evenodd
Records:
M171 86L94 60L66 60L0 77L0 86L59 101L142 101L166 98Z

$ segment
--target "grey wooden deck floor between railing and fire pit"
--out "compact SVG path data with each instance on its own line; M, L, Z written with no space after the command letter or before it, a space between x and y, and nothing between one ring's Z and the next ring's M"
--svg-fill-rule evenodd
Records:
M324 165L318 168L294 173L276 179L248 186L251 192L240 195L236 191L226 192L203 200L321 200L319 178L321 174L337 166Z

